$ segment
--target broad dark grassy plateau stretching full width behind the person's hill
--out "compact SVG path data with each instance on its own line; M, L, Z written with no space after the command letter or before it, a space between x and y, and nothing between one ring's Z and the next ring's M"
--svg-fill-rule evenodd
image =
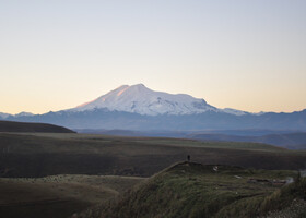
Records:
M258 143L0 133L0 177L115 174L150 177L187 155L204 165L304 169L306 153Z

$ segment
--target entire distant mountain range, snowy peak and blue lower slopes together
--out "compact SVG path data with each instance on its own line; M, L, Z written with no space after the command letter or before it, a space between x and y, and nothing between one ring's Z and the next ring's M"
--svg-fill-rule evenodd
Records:
M220 109L185 94L154 92L142 84L123 85L75 108L44 114L0 113L0 119L47 122L70 129L306 131L306 110L292 113L250 113Z

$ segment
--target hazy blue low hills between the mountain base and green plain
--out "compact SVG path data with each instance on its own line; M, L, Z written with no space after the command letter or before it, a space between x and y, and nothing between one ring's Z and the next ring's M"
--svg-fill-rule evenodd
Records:
M222 131L129 131L76 129L79 133L118 136L176 137L207 142L252 142L275 145L289 149L306 149L306 132L272 130L222 130Z

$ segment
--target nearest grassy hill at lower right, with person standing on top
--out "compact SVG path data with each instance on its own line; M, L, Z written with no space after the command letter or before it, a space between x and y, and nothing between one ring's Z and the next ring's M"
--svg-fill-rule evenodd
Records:
M267 217L269 213L271 217L305 217L306 180L281 184L296 173L228 166L217 166L216 171L215 167L177 164L117 201L74 217L238 218Z

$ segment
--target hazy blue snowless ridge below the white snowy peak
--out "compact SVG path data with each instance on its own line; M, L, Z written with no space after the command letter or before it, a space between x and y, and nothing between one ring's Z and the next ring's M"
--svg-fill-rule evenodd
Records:
M262 116L234 116L208 111L198 114L158 114L94 109L85 111L58 111L32 117L9 117L5 120L23 122L46 122L70 129L121 129L121 130L238 130L270 129L306 131L306 110L294 113L264 113Z

